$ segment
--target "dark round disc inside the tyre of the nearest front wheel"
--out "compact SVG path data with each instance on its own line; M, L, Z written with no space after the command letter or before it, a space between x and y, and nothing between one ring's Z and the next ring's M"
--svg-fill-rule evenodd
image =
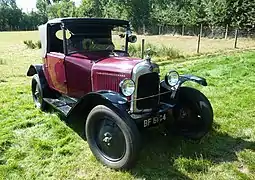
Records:
M96 128L94 137L102 155L111 160L118 161L126 151L125 137L119 126L112 120L103 119Z

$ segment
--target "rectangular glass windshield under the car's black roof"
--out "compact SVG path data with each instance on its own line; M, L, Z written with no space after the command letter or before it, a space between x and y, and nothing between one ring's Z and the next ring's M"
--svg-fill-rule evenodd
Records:
M70 28L67 34L67 52L125 51L124 27Z

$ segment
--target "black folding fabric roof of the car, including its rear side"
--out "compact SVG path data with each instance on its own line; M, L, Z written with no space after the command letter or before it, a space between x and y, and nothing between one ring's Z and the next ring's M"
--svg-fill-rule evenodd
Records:
M49 20L47 23L38 27L42 43L43 58L47 56L47 52L49 52L50 48L61 48L63 45L63 42L56 37L56 32L61 30L61 25L64 25L68 30L76 34L84 34L88 31L87 33L90 35L100 31L103 33L110 33L110 30L118 26L127 29L130 28L129 21L120 19L67 17ZM59 49L55 49L55 51L61 52Z

